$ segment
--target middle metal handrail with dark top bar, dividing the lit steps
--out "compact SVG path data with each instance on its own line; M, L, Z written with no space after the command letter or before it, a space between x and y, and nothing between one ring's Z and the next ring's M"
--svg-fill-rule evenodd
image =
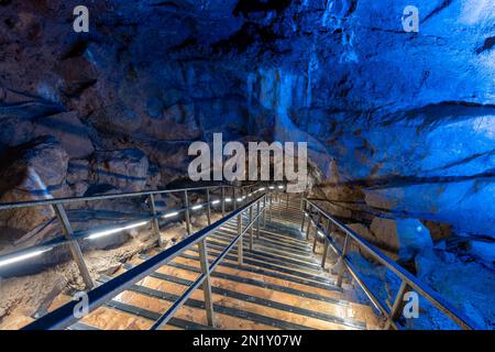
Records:
M176 256L180 255L184 251L187 251L195 244L200 244L206 240L206 238L229 222L230 220L238 218L238 224L242 223L242 213L245 212L249 209L252 209L254 205L260 205L260 202L263 199L263 208L260 210L260 206L257 207L258 213L255 219L251 219L252 221L250 224L243 230L238 233L238 235L230 242L228 248L220 254L220 256L209 266L208 271L202 273L200 278L198 278L193 286L190 286L185 294L176 301L176 304L167 310L160 319L152 327L153 329L156 329L169 319L169 317L175 312L182 304L184 304L187 298L190 296L194 289L196 289L201 283L204 283L209 277L209 272L213 270L218 263L227 255L227 253L235 245L235 243L239 242L240 239L242 239L242 235L246 233L248 229L252 228L254 226L254 222L258 220L260 216L264 213L266 208L266 193L258 196L254 200L250 201L249 204L244 205L243 207L234 210L230 215L223 217L222 219L218 220L217 222L209 224L202 230L199 230L195 234L184 239L176 245L164 250L163 252L156 254L155 256L151 257L150 260L141 263L138 266L134 266L133 268L124 272L120 276L117 276L116 278L94 288L92 290L88 292L88 311L94 311L98 307L105 305L107 301L119 295L120 293L124 292L125 289L130 288L135 283L140 282L144 277L148 276L153 272L157 271L161 266L166 265L172 260L174 260ZM257 221L257 231L260 231L260 221ZM238 227L239 228L239 227ZM206 244L206 242L205 242ZM205 245L204 244L204 245ZM238 254L240 255L240 261L242 261L242 240L238 244L240 246ZM202 260L207 261L207 257L205 257L206 254L206 246L200 250L200 254L202 253ZM208 261L207 261L208 263ZM211 288L209 289L209 295L211 296ZM211 297L210 297L211 298ZM208 298L207 298L208 299ZM177 304L178 302L178 304ZM210 300L211 302L211 300ZM73 323L75 323L78 318L74 315L75 308L78 305L77 301L70 301L66 305L62 306L61 308L47 314L46 316L35 320L34 322L30 323L29 326L24 327L23 330L57 330L57 329L64 329ZM212 306L210 305L210 309L212 309ZM206 305L206 308L208 310L208 305ZM212 312L212 311L211 311Z

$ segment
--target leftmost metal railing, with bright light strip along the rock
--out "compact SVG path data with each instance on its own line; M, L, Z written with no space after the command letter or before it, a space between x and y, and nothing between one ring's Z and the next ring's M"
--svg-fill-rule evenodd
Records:
M42 200L32 200L32 201L23 201L23 202L11 202L11 204L1 204L0 211L6 210L15 210L23 208L33 208L33 207L51 207L54 211L56 219L58 220L59 226L62 227L63 235L58 235L48 241L44 241L36 245L32 245L29 248L24 248L21 250L14 250L9 253L4 253L0 255L0 270L8 266L11 267L18 263L31 260L35 256L42 255L54 248L67 244L72 254L74 262L76 263L80 276L86 285L87 289L91 289L95 284L89 274L87 264L85 262L85 257L82 255L80 241L92 240L106 235L110 235L113 233L122 232L130 229L135 229L140 227L144 227L146 224L151 224L152 231L156 237L160 246L163 246L161 234L160 234L160 220L162 219L172 219L178 218L184 213L185 222L186 222L186 231L187 234L191 234L191 226L190 226L190 212L199 209L207 209L207 218L208 223L211 223L211 207L218 205L221 208L222 216L226 215L226 204L228 206L232 205L233 209L237 209L238 206L246 198L253 197L260 189L265 189L264 187L258 188L258 184L248 185L235 187L231 185L221 185L221 186L207 186L207 187L191 187L191 188L179 188L179 189L166 189L166 190L150 190L150 191L136 191L136 193L125 193L125 194L113 194L113 195L100 195L100 196L91 196L91 197L76 197L76 198L59 198L59 199L42 199ZM220 190L221 195L210 200L210 196L213 191ZM207 201L200 205L191 206L189 202L190 193L206 193ZM232 197L226 197L226 191L231 191ZM240 195L237 195L239 191ZM169 195L169 194L179 194L182 195L184 205L180 209L170 210L166 213L158 212L156 210L155 197L160 195ZM136 198L136 197L146 197L148 213L139 218L133 218L131 221L119 223L119 227L98 227L92 229L86 229L82 231L74 231L73 226L67 216L65 206L77 204L77 202L89 202L89 201L99 201L99 200L114 200L114 199L123 199L123 198Z

